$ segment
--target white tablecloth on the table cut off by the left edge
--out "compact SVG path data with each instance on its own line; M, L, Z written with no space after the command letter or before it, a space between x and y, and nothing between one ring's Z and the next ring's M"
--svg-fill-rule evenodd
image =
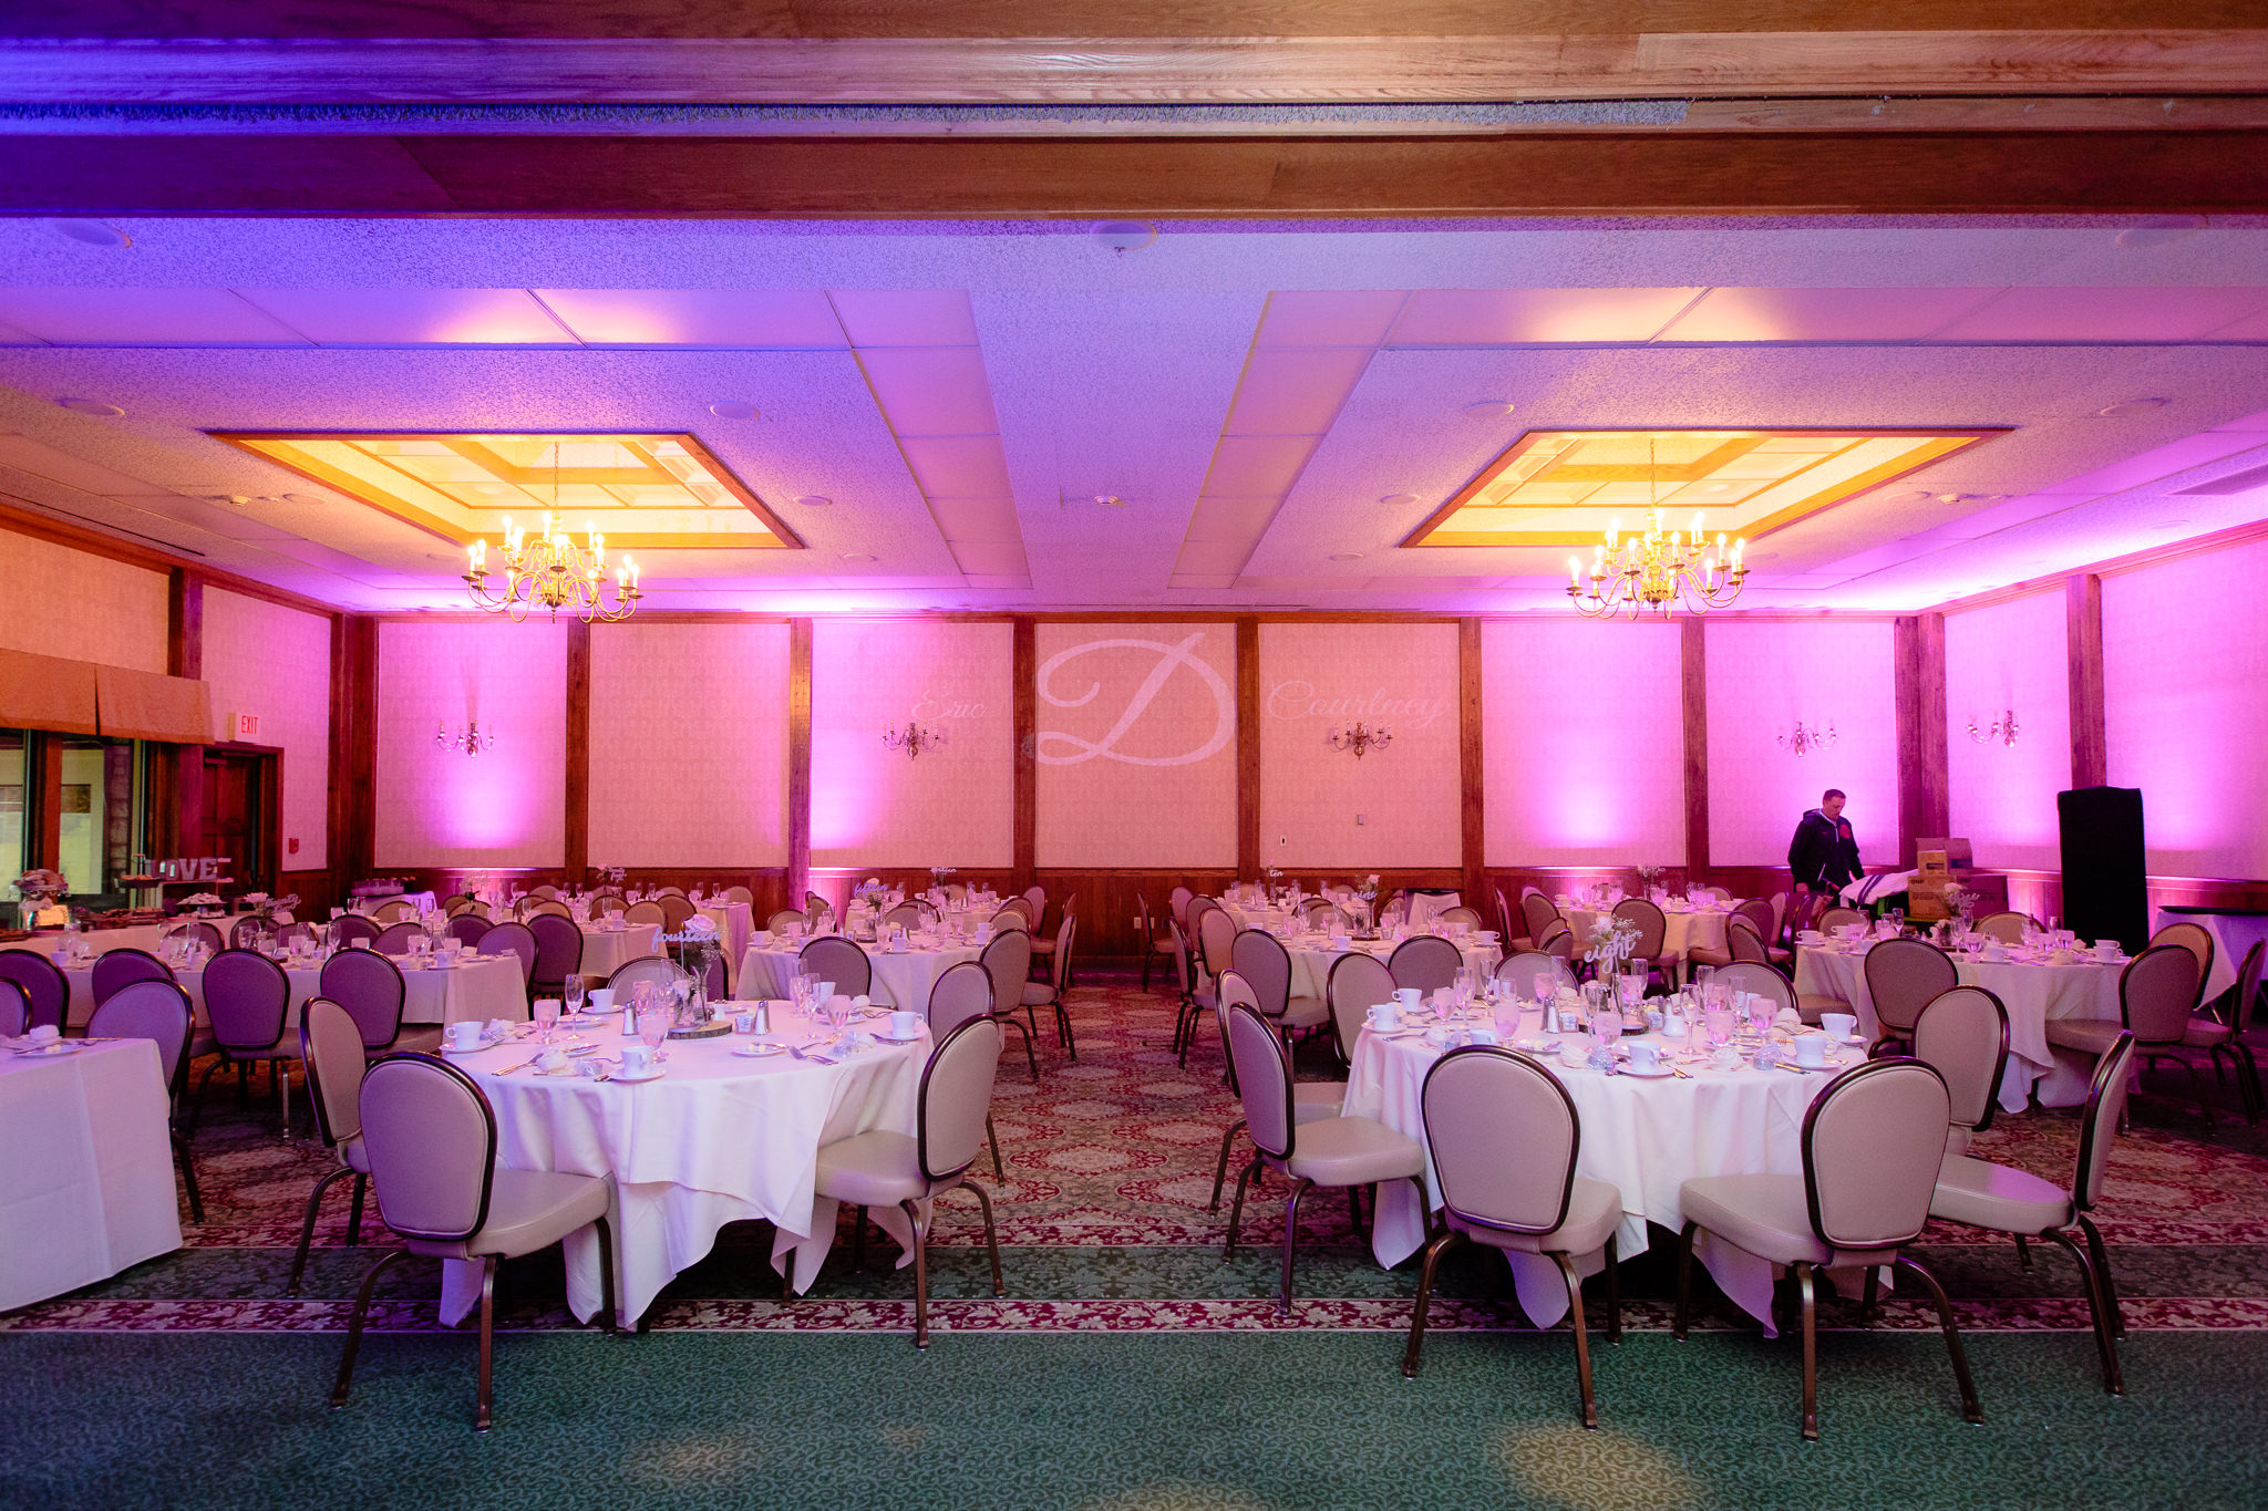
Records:
M181 1246L156 1044L0 1053L0 1312Z

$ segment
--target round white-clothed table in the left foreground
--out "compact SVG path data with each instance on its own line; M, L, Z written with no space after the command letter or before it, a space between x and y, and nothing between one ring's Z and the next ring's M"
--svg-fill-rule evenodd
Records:
M599 1056L619 1058L621 1033L599 1019L576 1028ZM771 1004L773 1040L805 1044L823 1026ZM871 1033L880 1019L866 1022ZM621 1325L644 1316L678 1271L701 1260L717 1230L737 1221L771 1221L771 1264L794 1271L796 1289L819 1278L835 1244L837 1203L814 1194L819 1149L875 1128L914 1133L921 1069L930 1035L905 1044L875 1040L839 1065L814 1058L733 1053L739 1035L674 1040L662 1076L646 1083L592 1081L581 1074L499 1074L533 1058L531 1038L515 1038L451 1062L472 1072L497 1108L497 1162L610 1176L608 1226L615 1232L615 1284ZM873 1207L882 1230L912 1244L898 1207ZM912 1260L905 1248L900 1264ZM442 1264L445 1323L458 1323L481 1300L479 1262ZM599 1314L599 1237L585 1228L567 1239L567 1305L581 1321Z

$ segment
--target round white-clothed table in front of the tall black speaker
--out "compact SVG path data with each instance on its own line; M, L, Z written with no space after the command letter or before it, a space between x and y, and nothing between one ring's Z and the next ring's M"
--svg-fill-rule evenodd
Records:
M2023 1112L2030 1096L2046 1108L2075 1108L2087 1101L2093 1062L2084 1056L2057 1056L2048 1047L2048 1022L2057 1017L2102 1017L2118 1022L2118 974L2125 961L2077 961L2048 965L2023 958L1978 961L1953 956L1953 974L1962 985L1982 985L2007 1008L2007 1069L2000 1074L2000 1105ZM1867 954L1844 945L1805 945L1796 949L1796 992L1805 997L1842 997L1857 1013L1860 1031L1871 1040L1880 1033L1873 994L1867 990Z

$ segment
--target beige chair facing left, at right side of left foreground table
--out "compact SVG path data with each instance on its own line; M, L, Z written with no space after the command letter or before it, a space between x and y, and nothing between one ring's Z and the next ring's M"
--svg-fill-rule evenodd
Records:
M968 1180L984 1135L993 1076L1000 1072L1000 1019L973 1017L937 1044L914 1094L914 1133L871 1128L819 1149L812 1194L857 1207L860 1232L866 1207L898 1205L914 1228L914 1348L930 1346L930 1228L934 1198L953 1189L971 1192L984 1212L984 1250L991 1255L993 1296L1007 1296L1000 1280L1000 1235L991 1196ZM928 1205L928 1212L923 1210Z

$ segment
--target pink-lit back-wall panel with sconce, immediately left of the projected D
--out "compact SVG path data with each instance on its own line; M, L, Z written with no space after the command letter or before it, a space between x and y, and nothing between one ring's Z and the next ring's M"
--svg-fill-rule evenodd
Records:
M1014 865L1012 637L1005 621L812 625L812 865ZM946 743L887 748L907 723Z

